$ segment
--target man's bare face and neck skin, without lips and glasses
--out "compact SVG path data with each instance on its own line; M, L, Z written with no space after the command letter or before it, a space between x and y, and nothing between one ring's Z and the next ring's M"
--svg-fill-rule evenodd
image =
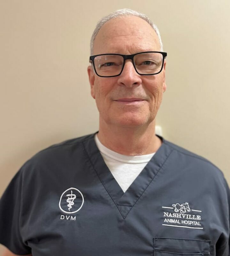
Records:
M145 51L160 51L157 34L146 21L132 16L106 22L95 38L93 54ZM150 154L160 147L155 117L166 90L165 64L161 73L153 76L137 74L132 60L126 60L117 77L99 77L88 67L91 95L99 111L98 138L105 147L133 156ZM131 97L145 101L129 105L114 101Z

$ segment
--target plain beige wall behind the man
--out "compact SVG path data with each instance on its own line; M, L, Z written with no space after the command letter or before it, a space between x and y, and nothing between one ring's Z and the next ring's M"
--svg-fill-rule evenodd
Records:
M168 52L163 136L230 182L229 0L1 0L0 195L37 151L98 129L89 40L96 22L121 8L147 14Z

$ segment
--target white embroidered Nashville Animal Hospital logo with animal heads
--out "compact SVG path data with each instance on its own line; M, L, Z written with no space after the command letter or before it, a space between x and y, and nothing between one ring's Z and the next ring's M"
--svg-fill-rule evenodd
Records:
M172 204L172 206L173 207L162 206L162 208L165 209L172 209L168 211L165 210L165 212L163 212L163 226L203 229L201 225L201 215L198 215L198 213L202 211L190 209L188 202L184 204L176 203ZM194 214L187 214L187 212L194 212Z

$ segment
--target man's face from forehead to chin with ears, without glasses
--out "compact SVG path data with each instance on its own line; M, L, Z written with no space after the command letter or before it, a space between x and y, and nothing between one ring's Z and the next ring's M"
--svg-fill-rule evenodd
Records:
M93 55L145 51L160 51L157 34L145 20L129 16L109 20L102 26L95 38ZM126 60L121 75L115 77L99 77L89 66L91 95L96 100L100 125L150 124L166 90L165 64L159 74L143 76L136 73L132 60Z

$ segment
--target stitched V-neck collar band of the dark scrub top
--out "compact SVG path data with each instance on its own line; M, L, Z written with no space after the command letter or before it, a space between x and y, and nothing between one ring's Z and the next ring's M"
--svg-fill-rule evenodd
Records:
M123 218L125 218L136 201L149 186L150 182L154 179L173 149L165 143L166 141L163 137L157 135L162 140L162 145L124 193L110 172L108 166L105 164L104 159L96 146L94 139L96 133L97 132L91 134L87 137L87 140L83 141L85 150L94 170L104 185L104 188L119 208Z

